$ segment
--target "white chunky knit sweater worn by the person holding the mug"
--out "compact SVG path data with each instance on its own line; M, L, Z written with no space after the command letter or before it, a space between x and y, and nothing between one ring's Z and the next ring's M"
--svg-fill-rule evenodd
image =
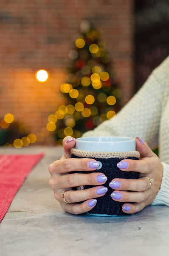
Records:
M153 70L121 111L82 135L95 136L138 136L152 149L158 145L163 179L152 205L169 206L169 57Z

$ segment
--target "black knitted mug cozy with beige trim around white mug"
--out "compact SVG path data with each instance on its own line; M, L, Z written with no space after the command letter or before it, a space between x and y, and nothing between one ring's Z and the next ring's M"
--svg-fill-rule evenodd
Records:
M125 151L125 152L91 152L91 151L82 151L77 150L76 148L71 149L71 158L93 158L99 162L98 169L93 172L104 173L107 177L106 183L103 186L108 188L108 191L105 195L96 198L97 204L93 209L89 211L91 214L106 214L106 215L125 215L122 211L122 205L125 202L114 201L110 194L113 192L113 189L110 188L109 183L114 178L122 179L138 179L138 172L125 172L121 171L116 165L122 159L133 159L139 160L140 153L139 151ZM72 173L91 173L92 171L74 171ZM93 185L85 185L73 187L73 190L82 190L92 188ZM82 203L82 202L79 202Z

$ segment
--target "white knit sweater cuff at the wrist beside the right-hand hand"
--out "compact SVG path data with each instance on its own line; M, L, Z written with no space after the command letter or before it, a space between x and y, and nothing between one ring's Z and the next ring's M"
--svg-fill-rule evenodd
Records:
M163 204L169 206L169 165L161 163L163 164L161 187L151 205Z

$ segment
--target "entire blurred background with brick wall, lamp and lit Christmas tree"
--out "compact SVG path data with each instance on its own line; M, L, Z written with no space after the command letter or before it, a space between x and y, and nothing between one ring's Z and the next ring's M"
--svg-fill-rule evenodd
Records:
M0 32L0 145L61 145L169 55L169 1L1 0Z

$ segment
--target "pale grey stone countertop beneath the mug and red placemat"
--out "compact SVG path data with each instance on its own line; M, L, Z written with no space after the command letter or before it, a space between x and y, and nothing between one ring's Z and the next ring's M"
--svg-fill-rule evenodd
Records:
M48 186L48 165L62 147L0 148L0 154L45 156L17 192L0 224L0 256L159 256L169 252L169 208L95 217L64 212Z

